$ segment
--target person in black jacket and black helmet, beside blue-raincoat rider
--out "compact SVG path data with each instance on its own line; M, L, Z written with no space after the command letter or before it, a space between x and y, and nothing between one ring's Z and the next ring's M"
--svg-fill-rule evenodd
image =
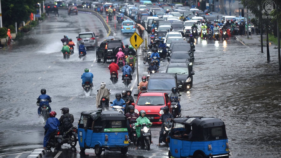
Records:
M69 109L64 107L61 108L61 117L59 118L60 122L60 130L63 132L68 131L71 127L73 127L74 117L69 113Z

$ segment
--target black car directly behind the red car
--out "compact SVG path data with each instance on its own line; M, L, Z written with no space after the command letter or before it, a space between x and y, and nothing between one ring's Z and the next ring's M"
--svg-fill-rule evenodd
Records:
M177 75L174 73L154 73L149 76L147 92L171 93L173 87L179 87Z

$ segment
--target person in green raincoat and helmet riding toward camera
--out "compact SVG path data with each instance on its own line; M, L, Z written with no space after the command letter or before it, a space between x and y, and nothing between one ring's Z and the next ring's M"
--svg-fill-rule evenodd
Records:
M136 142L136 148L135 149L137 150L138 146L140 144L140 128L141 128L141 125L143 123L152 125L152 123L149 121L149 119L147 117L145 117L145 111L144 110L140 110L140 116L136 119L136 121L137 122L135 123L135 126L136 126L136 133L137 133L138 139L137 139L137 142Z

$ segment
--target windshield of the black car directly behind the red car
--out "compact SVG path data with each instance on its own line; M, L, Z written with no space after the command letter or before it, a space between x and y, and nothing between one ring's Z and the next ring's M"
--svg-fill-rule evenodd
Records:
M169 90L176 86L175 79L159 79L149 78L149 84L147 89L149 90Z

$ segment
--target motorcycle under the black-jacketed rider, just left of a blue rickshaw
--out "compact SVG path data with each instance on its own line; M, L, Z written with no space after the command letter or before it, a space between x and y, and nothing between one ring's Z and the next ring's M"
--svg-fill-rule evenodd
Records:
M69 130L63 133L61 145L69 144L71 147L75 147L77 144L77 127L71 127Z

